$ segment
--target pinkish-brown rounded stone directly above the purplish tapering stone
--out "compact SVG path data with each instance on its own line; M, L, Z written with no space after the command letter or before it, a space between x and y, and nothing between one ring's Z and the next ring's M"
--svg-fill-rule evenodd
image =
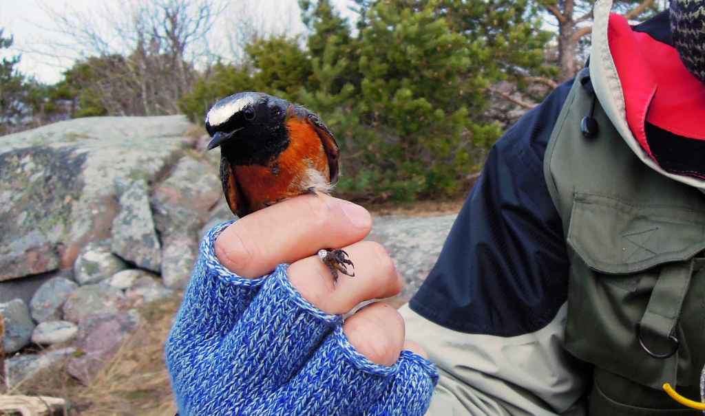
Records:
M120 289L108 284L87 284L68 296L63 304L63 319L80 322L90 315L117 313L124 303L125 295Z

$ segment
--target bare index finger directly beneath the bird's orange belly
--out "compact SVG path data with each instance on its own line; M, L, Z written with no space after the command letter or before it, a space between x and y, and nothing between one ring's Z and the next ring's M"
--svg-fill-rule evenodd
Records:
M240 218L215 243L221 264L242 277L362 240L372 217L359 205L325 194L291 198Z

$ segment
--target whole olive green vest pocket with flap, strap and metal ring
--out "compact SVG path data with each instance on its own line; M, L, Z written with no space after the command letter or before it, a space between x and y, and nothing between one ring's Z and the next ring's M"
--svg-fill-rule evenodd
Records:
M705 210L576 194L568 244L568 350L654 389L697 384L705 361L698 260Z

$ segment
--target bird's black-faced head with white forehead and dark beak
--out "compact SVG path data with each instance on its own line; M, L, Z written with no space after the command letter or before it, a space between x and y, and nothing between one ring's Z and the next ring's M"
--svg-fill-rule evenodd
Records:
M288 101L262 92L239 92L221 99L206 115L212 137L208 149L221 146L234 163L262 163L286 148Z

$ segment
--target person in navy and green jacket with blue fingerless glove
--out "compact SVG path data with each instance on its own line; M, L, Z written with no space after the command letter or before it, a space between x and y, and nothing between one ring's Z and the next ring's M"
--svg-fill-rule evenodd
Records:
M303 196L209 233L166 346L180 414L693 413L663 384L697 398L705 365L705 1L634 27L611 6L398 312L342 318L400 290L355 204ZM332 282L324 246L355 279Z

